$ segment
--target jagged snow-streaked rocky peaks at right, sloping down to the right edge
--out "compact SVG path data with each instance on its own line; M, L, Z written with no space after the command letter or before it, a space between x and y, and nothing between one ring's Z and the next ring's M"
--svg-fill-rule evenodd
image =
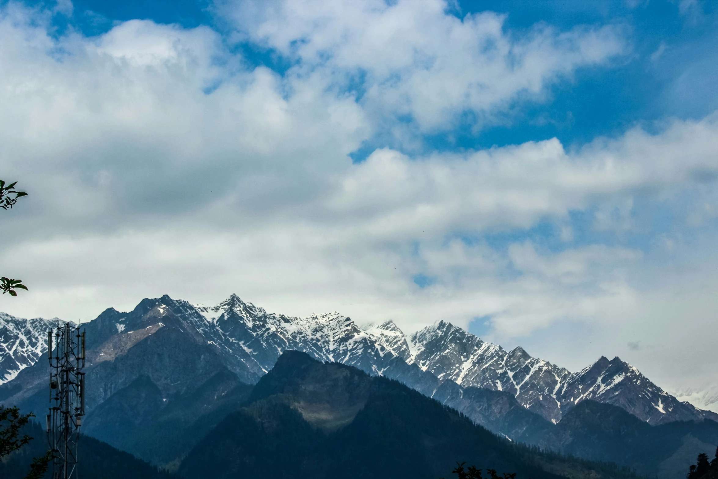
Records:
M585 399L619 406L653 425L718 420L718 414L679 401L617 357L602 357L569 373L521 347L506 351L443 321L414 333L409 342L414 350L409 362L424 371L465 387L508 391L519 404L554 424Z

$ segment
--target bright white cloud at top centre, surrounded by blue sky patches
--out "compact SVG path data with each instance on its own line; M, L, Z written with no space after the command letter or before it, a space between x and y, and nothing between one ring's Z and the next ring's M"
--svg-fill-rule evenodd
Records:
M513 101L627 50L617 27L537 25L516 37L503 16L458 18L443 0L243 1L220 11L241 37L297 62L293 75L339 90L362 78L360 102L376 122L408 115L421 131L452 129L464 112L496 121Z

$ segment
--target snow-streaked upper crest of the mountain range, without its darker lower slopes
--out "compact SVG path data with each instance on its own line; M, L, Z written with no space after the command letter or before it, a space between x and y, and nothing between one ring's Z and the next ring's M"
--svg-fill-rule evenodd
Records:
M29 381L19 371L47 350L47 329L55 321L0 313L0 383ZM620 358L602 357L571 373L533 358L523 348L504 350L443 321L405 335L391 321L359 327L337 312L304 318L276 315L234 294L214 307L164 296L144 299L129 313L106 310L87 323L88 348L93 351L88 358L93 358L93 366L113 360L169 324L210 348L246 383L256 383L284 350L301 350L320 361L396 378L429 396L449 381L460 389L505 391L554 423L585 399L620 406L649 424L718 420L718 414L679 401ZM102 394L111 394L113 387L98 393L95 401L102 401Z

